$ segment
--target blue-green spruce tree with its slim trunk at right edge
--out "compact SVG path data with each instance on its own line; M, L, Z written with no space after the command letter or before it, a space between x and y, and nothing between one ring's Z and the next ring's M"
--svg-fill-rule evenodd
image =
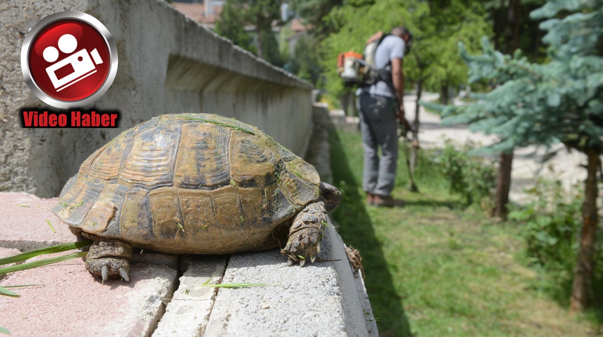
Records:
M468 123L474 131L496 134L490 151L513 151L527 145L562 142L587 156L582 207L582 235L572 285L570 309L589 306L595 259L598 213L596 171L603 153L603 0L549 0L531 13L548 19L551 61L538 65L518 50L511 57L487 40L483 54L461 54L470 66L470 81L488 81L496 89L475 95L469 107L446 107L444 121Z

